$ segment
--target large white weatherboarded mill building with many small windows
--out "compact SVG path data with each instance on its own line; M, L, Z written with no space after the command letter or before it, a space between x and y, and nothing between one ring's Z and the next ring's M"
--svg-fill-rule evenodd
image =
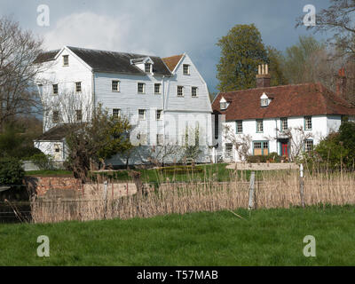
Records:
M130 164L148 162L152 146L181 143L187 128L199 130L198 162L210 161L209 91L187 54L162 59L64 46L44 52L35 63L45 70L36 83L46 106L43 135L35 146L56 161L66 159L63 126L87 121L99 104L110 114L127 116L135 125L134 139L140 146ZM126 163L120 155L107 162Z

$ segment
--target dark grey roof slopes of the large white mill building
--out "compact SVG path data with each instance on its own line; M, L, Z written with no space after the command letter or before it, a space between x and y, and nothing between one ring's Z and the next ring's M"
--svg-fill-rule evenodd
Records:
M130 63L130 59L141 59L149 57L154 62L154 75L171 76L169 68L164 64L162 59L157 56L116 51L99 51L72 46L67 46L67 48L70 51L73 51L80 59L83 59L83 61L88 64L93 69L93 71L125 73L131 75L146 75L146 73L141 69L132 65ZM35 63L42 63L45 61L53 60L58 52L59 50L43 52L37 57Z

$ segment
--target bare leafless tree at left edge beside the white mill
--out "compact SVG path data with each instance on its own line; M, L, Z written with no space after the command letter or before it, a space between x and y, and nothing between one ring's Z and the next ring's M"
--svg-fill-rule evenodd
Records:
M33 64L43 41L9 17L0 18L0 130L18 114L41 111L34 81L41 66Z

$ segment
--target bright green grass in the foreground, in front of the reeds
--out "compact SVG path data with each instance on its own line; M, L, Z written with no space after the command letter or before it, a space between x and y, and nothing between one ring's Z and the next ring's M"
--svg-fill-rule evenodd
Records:
M354 265L354 207L1 225L0 265ZM36 256L39 235L51 256ZM317 241L305 257L304 236Z

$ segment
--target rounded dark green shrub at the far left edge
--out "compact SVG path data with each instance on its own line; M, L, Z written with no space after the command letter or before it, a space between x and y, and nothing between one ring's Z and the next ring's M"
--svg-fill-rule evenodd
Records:
M0 160L0 185L20 185L25 176L22 162L16 158L2 158Z

